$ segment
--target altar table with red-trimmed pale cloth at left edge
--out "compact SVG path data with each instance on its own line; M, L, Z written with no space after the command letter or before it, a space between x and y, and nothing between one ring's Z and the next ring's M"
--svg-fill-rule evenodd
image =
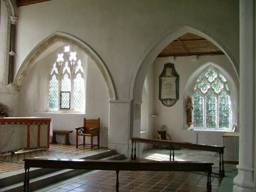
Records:
M50 123L51 118L48 117L0 118L0 154L49 148Z

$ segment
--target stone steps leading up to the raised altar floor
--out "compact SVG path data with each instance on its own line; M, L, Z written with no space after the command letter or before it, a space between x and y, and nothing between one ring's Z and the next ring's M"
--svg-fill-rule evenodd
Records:
M116 154L115 150L106 150L104 152L95 151L90 155L80 155L76 159L108 159L108 157L122 159L123 156ZM35 189L39 186L49 185L49 183L57 182L62 179L74 177L86 172L86 170L59 170L59 169L41 169L30 168L30 183L31 189ZM0 192L2 191L22 191L23 188L24 170L10 171L4 174L0 174ZM41 182L41 180L44 182Z

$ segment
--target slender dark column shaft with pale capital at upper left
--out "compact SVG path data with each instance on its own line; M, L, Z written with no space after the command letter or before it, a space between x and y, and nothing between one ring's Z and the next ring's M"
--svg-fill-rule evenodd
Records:
M11 16L11 34L10 34L10 52L9 52L9 70L8 70L8 84L13 82L14 76L14 48L15 48L15 30L17 17Z

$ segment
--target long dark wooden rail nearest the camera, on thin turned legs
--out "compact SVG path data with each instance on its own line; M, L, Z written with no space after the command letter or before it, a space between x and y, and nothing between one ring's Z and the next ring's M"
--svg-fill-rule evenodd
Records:
M154 162L154 161L115 161L115 160L85 160L57 158L26 158L24 192L29 191L30 167L53 169L82 170L115 170L116 191L119 191L119 171L204 171L207 172L207 191L212 190L211 173L213 163L202 162Z

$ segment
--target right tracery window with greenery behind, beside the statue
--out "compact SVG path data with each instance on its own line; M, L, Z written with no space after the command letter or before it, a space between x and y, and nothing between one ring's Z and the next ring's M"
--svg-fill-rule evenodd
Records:
M230 87L220 71L210 67L198 76L192 101L194 129L230 131Z

